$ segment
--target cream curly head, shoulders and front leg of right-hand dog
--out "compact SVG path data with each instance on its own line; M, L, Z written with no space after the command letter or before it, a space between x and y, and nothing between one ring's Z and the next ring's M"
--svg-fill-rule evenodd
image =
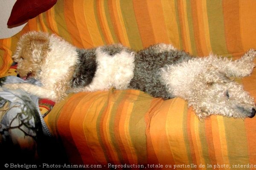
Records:
M211 114L235 118L255 115L254 99L242 85L228 77L249 76L256 51L250 49L241 59L231 61L215 55L193 58L178 65L161 69L161 77L168 91L188 101L202 119Z

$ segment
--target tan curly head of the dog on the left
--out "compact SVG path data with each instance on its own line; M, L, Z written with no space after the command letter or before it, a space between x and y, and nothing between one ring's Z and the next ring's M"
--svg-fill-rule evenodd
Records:
M40 65L49 51L49 35L43 32L28 32L17 43L17 50L12 56L17 62L17 74L23 78L38 78Z

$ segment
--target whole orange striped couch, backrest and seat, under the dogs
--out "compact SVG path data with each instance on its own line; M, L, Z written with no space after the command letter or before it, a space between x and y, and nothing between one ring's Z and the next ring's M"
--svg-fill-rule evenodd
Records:
M163 42L199 57L212 52L236 59L256 48L255 6L255 0L58 0L18 34L0 40L0 77L15 74L11 56L27 31L54 33L78 48L122 43L140 50ZM256 70L235 81L256 97ZM48 101L52 109L44 104L53 140L73 165L255 168L256 118L200 121L183 99L132 89L70 94Z

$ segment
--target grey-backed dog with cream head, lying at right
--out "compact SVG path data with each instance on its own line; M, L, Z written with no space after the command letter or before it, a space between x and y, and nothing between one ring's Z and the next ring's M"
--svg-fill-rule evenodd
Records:
M163 99L181 97L193 106L199 119L212 114L252 118L254 99L229 77L249 76L255 56L256 50L250 49L235 61L213 54L192 57L172 45L151 45L135 55L129 88Z

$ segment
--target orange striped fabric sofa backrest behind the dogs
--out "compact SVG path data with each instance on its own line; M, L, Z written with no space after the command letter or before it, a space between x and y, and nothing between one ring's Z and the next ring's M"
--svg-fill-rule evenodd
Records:
M255 0L58 0L4 42L10 51L0 55L9 57L18 37L31 30L79 48L122 43L140 50L163 42L198 56L240 55L256 48L255 6Z

